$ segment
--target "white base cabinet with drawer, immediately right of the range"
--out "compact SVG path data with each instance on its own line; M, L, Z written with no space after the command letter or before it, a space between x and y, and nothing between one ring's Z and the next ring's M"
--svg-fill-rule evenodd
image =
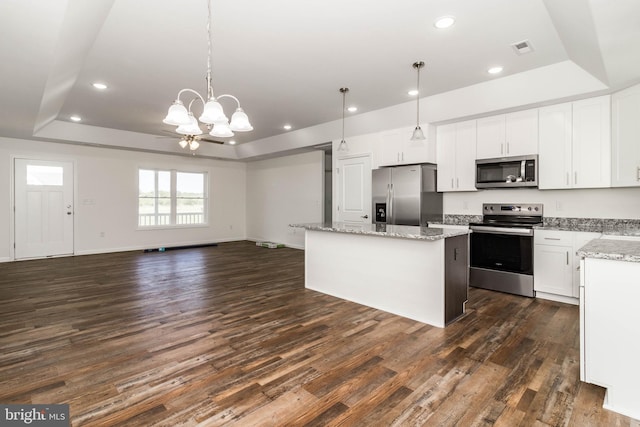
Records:
M600 233L535 230L533 249L533 288L536 296L578 298L580 258L578 249L600 237ZM570 302L565 300L566 302ZM577 303L576 301L572 301Z

